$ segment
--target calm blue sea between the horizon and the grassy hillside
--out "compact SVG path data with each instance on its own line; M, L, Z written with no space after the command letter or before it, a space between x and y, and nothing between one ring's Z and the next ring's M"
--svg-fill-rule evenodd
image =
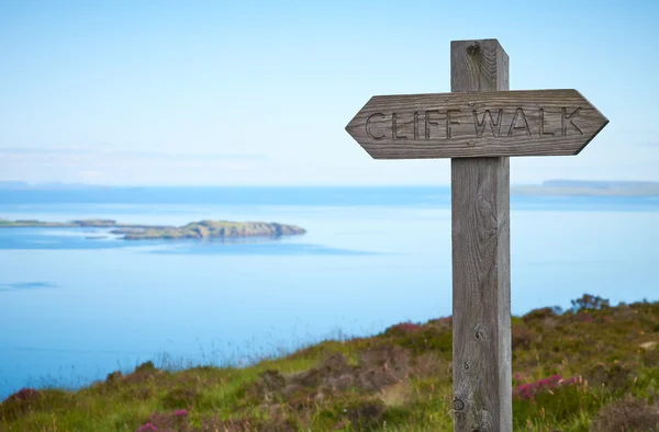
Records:
M295 224L302 237L123 241L105 229L0 229L0 397L146 360L244 364L451 312L442 187L0 191L0 218ZM656 299L659 201L513 197L512 308L588 292Z

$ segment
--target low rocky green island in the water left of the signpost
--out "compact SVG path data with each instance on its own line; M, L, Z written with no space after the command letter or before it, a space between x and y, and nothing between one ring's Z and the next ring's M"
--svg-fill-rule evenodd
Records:
M280 237L303 235L306 231L294 225L263 221L201 220L182 227L118 224L111 219L71 220L48 223L41 220L0 219L0 228L115 228L112 234L123 235L124 240L158 239L213 239L239 237Z

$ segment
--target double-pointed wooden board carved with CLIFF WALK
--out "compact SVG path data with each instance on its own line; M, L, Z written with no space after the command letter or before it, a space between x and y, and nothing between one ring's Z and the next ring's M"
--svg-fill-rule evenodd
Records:
M577 90L379 95L346 130L373 159L579 154L608 120Z

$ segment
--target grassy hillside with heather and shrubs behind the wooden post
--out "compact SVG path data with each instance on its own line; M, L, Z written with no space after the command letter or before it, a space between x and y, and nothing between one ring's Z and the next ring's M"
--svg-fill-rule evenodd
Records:
M513 317L515 431L659 431L659 302ZM453 431L451 318L245 368L147 362L77 391L23 389L2 431Z

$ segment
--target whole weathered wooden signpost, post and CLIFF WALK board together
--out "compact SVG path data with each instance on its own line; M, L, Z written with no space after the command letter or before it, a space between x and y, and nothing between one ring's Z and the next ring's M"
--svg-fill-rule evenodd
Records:
M450 58L453 93L373 96L346 130L375 159L451 158L454 430L509 432L509 157L577 155L608 121L576 90L507 91L496 39Z

